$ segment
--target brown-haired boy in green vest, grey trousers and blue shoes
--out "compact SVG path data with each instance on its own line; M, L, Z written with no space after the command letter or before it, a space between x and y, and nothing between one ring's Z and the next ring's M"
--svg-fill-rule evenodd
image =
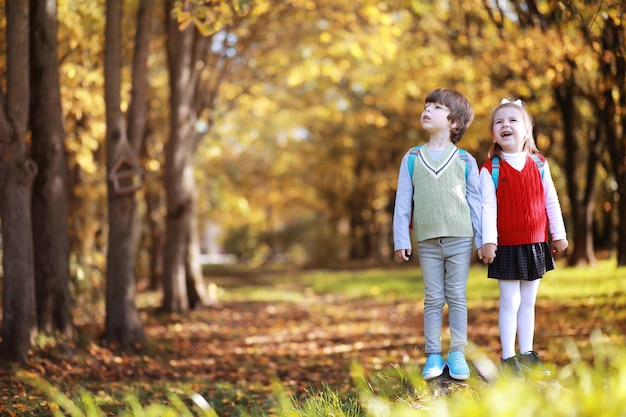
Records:
M456 143L474 119L474 110L458 91L439 88L425 100L421 124L428 143L402 158L394 209L394 251L397 261L411 256L412 221L424 280L425 380L440 376L469 378L467 345L467 277L472 238L482 258L481 196L478 165ZM448 303L450 349L441 351L443 306Z

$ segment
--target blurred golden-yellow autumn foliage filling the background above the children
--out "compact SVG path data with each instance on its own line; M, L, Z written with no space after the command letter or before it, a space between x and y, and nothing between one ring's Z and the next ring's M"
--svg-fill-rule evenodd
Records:
M105 185L99 177L103 5L59 1L70 161L89 184L80 192L94 200L103 198ZM382 217L402 150L425 139L418 119L423 98L440 86L459 89L474 105L477 117L462 144L479 159L489 143L487 116L501 97L530 99L539 124L558 130L551 89L575 68L582 93L593 96L601 45L588 44L583 31L598 36L602 19L621 18L620 5L541 2L546 17L560 10L558 24L522 27L516 13L524 9L516 11L513 2L176 1L168 18L197 27L213 46L197 62L206 81L199 98L215 94L198 114L210 127L196 155L201 216L235 224L269 218L271 211L288 223L301 209L300 217L345 218L350 193L369 182L363 192L372 195L359 211ZM127 51L132 33L129 27ZM156 180L169 85L164 40L155 39L155 137L146 167ZM578 109L591 120L591 108ZM538 141L548 146L559 135L543 131ZM357 163L366 164L358 173ZM243 220L231 219L233 210L244 209Z

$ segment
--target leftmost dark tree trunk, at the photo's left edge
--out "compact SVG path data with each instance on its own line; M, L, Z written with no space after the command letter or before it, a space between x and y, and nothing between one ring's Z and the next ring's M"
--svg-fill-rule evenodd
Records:
M6 3L6 95L0 94L2 349L26 361L37 334L31 192L37 165L26 156L29 100L29 2Z

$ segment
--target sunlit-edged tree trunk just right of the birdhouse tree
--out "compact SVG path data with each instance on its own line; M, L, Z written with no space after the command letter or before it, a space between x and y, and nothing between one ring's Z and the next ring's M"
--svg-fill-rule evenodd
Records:
M170 137L165 148L165 194L167 205L165 257L163 263L163 308L168 312L186 312L197 304L207 303L194 255L197 243L195 221L196 185L193 178L193 154L196 149L196 114L194 98L199 71L195 63L204 54L207 40L194 25L179 30L170 16L173 1L165 2L167 56L170 71ZM199 274L200 272L200 274ZM188 283L189 282L189 283ZM193 288L190 292L189 289Z

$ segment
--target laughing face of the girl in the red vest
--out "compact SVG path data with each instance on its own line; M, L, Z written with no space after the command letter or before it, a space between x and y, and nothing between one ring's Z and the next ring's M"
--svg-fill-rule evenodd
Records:
M491 135L493 141L500 145L504 152L522 152L529 136L522 110L515 106L505 106L496 110Z

